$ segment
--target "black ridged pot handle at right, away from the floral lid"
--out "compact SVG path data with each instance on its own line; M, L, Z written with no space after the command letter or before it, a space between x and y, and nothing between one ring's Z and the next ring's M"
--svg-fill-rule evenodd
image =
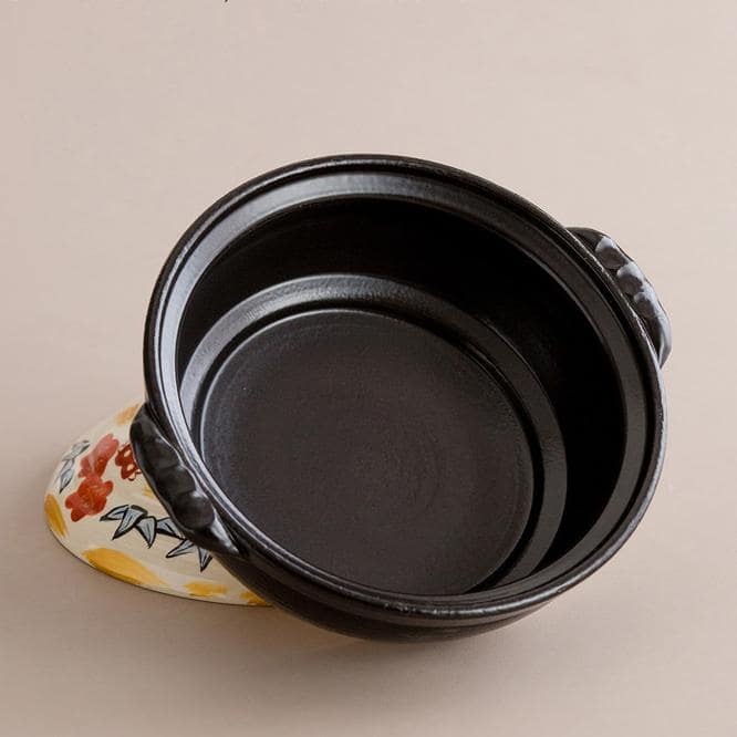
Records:
M612 274L617 287L627 295L647 330L662 366L671 354L673 343L671 321L645 274L608 235L593 228L569 228L569 230L593 251L599 262Z

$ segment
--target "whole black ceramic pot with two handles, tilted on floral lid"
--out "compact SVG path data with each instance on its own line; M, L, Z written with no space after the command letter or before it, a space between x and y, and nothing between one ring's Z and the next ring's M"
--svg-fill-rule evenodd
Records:
M437 164L318 159L174 249L132 440L184 533L266 599L354 635L466 635L637 525L669 344L603 233Z

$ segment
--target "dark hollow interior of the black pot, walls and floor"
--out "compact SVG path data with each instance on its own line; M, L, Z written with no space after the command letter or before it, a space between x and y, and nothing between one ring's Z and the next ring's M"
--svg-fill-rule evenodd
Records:
M323 200L233 239L189 293L176 365L231 502L387 591L543 568L622 465L617 376L577 301L518 245L422 204Z

